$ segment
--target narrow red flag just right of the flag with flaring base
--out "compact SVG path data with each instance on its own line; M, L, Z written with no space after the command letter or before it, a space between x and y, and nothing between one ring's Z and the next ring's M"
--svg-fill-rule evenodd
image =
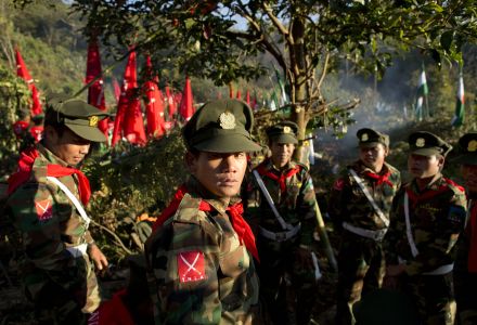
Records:
M153 76L153 65L151 63L151 56L146 55L145 58L145 74L147 81L144 83L144 93L146 100L144 100L145 113L147 117L147 135L160 136L165 132L164 127L164 101L163 94L157 86L158 78Z

